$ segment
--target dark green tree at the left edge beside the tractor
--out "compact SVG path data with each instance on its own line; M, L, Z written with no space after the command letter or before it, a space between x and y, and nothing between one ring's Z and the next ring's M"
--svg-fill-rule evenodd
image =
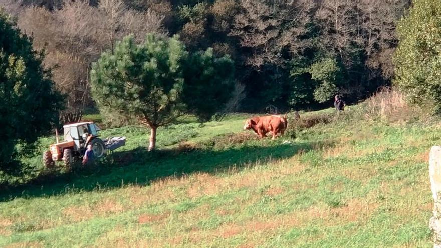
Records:
M31 144L58 121L61 96L42 54L0 10L0 169L14 161L15 145Z

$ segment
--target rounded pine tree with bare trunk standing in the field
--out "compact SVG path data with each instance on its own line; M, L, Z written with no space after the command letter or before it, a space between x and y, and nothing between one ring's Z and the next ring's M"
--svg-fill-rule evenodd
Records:
M147 124L153 150L158 127L188 112L207 120L223 107L232 67L228 57L215 58L211 50L189 55L177 36L148 34L139 45L127 36L93 64L92 96L101 111Z

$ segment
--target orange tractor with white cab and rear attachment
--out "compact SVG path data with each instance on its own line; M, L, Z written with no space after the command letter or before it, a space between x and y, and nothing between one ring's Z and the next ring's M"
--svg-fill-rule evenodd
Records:
M125 145L125 137L101 140L98 131L101 129L93 122L80 122L63 126L64 141L59 142L58 131L55 130L57 143L49 146L43 153L43 162L48 168L55 166L55 161L63 161L67 169L72 167L73 159L84 155L87 146L92 145L96 158L104 156L106 148L114 150ZM106 147L106 144L108 145Z

